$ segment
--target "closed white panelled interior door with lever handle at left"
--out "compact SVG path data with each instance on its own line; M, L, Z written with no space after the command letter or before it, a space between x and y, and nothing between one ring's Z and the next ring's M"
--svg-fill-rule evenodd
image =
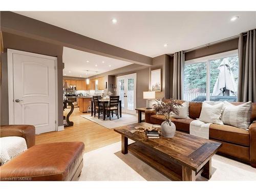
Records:
M56 57L8 50L10 124L34 125L36 134L56 131L56 63Z

